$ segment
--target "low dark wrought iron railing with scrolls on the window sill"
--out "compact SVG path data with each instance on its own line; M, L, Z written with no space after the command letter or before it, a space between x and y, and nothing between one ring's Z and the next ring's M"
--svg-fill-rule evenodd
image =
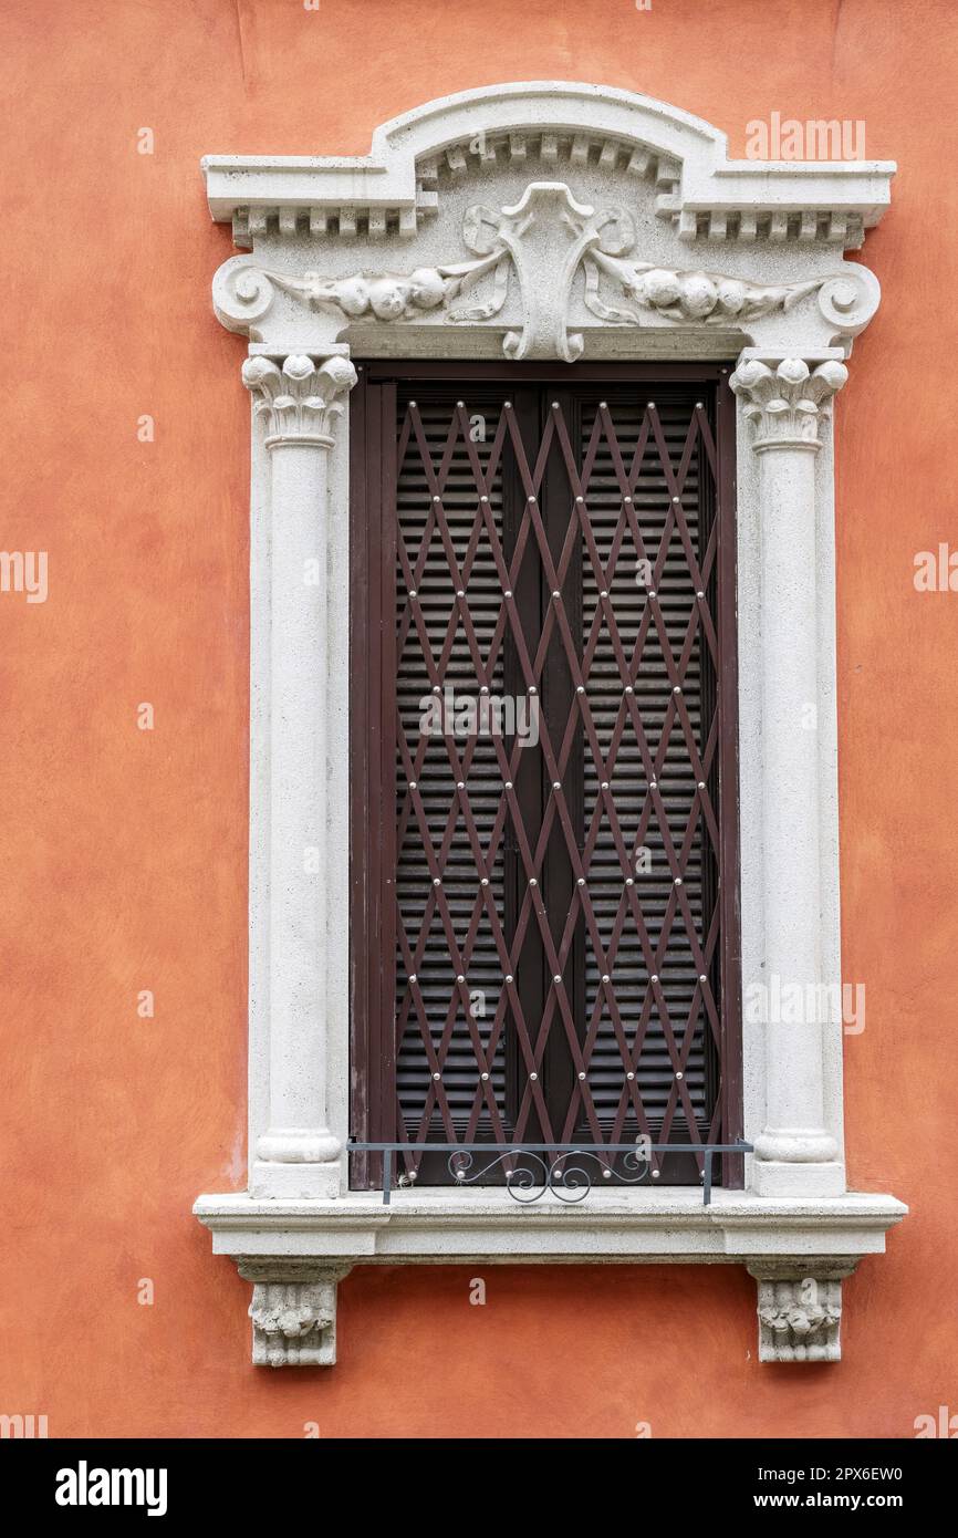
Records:
M457 1186L475 1186L497 1166L503 1167L509 1195L523 1204L538 1201L549 1192L560 1201L584 1201L592 1190L595 1170L578 1160L592 1160L601 1180L623 1186L638 1186L658 1172L654 1154L684 1154L703 1160L703 1206L712 1201L712 1160L717 1154L750 1154L750 1143L354 1143L351 1154L380 1154L383 1158L383 1204L392 1198L397 1154L447 1154L447 1169ZM475 1155L486 1163L474 1169ZM621 1164L621 1169L618 1167ZM514 1167L511 1167L514 1166ZM397 1184L412 1184L415 1172L400 1175Z

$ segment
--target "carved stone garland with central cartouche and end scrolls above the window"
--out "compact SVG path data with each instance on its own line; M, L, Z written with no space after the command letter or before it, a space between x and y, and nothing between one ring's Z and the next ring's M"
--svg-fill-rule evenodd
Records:
M629 255L635 225L626 209L597 214L578 203L564 181L531 181L518 203L498 211L474 203L463 217L463 243L474 254L469 261L420 266L412 272L361 271L338 278L317 271L295 277L237 258L217 274L217 314L226 325L248 329L263 318L280 289L311 309L344 320L391 325L444 311L454 325L477 323L500 314L515 272L523 328L503 338L506 357L570 363L584 348L581 334L569 331L580 269L586 308L598 320L620 326L640 326L657 317L683 326L733 328L789 311L818 294L821 314L835 332L855 335L878 303L878 285L866 268L853 278L832 274L806 283L760 285L704 268L681 271L635 261ZM629 303L610 303L603 297L603 285Z

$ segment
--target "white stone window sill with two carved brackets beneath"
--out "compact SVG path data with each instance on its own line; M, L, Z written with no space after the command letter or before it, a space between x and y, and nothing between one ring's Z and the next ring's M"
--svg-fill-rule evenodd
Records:
M841 1281L907 1207L889 1195L786 1198L594 1190L581 1203L506 1190L395 1190L337 1200L200 1197L195 1215L254 1283L254 1363L335 1361L337 1286L357 1264L744 1264L758 1283L760 1360L835 1361Z

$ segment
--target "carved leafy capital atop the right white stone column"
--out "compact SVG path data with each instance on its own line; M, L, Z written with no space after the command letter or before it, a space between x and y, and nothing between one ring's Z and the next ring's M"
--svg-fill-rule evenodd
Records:
M757 358L741 363L729 383L755 426L752 448L818 449L832 398L847 377L844 363L835 360L815 369L801 358L784 358L773 368Z

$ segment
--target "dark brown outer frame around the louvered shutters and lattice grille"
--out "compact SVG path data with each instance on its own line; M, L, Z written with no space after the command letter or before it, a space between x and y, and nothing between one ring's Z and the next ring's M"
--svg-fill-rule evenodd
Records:
M395 864L394 744L383 731L383 687L394 666L395 541L383 521L384 489L394 483L394 415L384 391L368 383L495 380L535 384L695 383L714 400L718 461L717 620L723 732L720 838L726 877L721 906L721 1123L723 1140L743 1135L741 900L738 820L738 657L735 557L735 400L723 363L507 365L498 361L368 361L351 397L351 1135L389 1141L377 1107L395 1070L395 921L384 903L384 869ZM717 1161L718 1164L718 1161ZM717 1181L743 1186L741 1155L724 1155ZM423 1183L429 1183L423 1172ZM354 1155L352 1184L378 1184L372 1160Z

